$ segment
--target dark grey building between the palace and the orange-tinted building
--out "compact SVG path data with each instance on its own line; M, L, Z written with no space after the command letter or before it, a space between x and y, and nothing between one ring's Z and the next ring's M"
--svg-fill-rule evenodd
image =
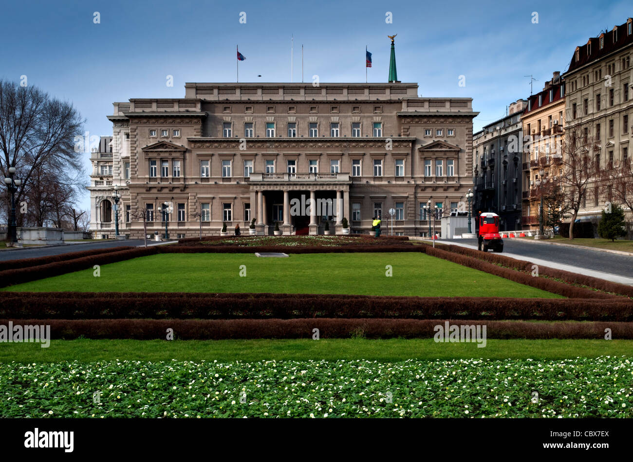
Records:
M502 231L521 227L521 116L526 107L527 101L518 99L510 104L508 115L473 136L473 215L497 213Z

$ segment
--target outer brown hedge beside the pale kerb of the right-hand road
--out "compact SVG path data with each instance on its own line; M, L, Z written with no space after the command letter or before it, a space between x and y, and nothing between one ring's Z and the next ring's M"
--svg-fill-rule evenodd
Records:
M534 263L532 263L531 261L517 260L515 258L510 258L494 253L480 252L475 249L468 249L467 247L454 246L453 244L442 246L441 248L448 250L449 252L482 259L496 265L504 265L510 268L517 268L517 270L527 273L532 273L532 265L534 265ZM537 266L539 267L539 275L542 276L561 279L569 284L587 285L588 287L594 287L594 289L605 290L606 292L613 292L616 294L622 294L627 297L633 297L633 287L631 287L630 285L618 284L617 282L611 282L605 279L594 278L591 276L572 273L564 270L556 270L555 268L549 268L548 266Z

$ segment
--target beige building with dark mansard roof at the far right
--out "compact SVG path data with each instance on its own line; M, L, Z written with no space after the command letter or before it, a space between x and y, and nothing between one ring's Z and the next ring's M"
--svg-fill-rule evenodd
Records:
M601 168L629 158L633 136L633 19L591 37L576 47L565 78L565 131L589 137L598 145L591 153ZM590 182L580 220L596 222L609 199ZM631 211L627 211L629 220Z

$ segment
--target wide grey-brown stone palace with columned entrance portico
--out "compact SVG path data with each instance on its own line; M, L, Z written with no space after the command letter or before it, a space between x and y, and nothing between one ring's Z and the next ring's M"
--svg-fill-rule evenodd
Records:
M427 201L466 209L476 115L470 98L418 97L402 82L191 83L182 99L114 103L113 137L91 153L91 230L113 237L118 185L130 237L142 237L140 209L148 233L166 224L172 238L223 223L248 234L253 218L258 234L323 234L326 222L340 234L343 218L368 232L375 216L385 231L391 208L394 234L426 235Z

